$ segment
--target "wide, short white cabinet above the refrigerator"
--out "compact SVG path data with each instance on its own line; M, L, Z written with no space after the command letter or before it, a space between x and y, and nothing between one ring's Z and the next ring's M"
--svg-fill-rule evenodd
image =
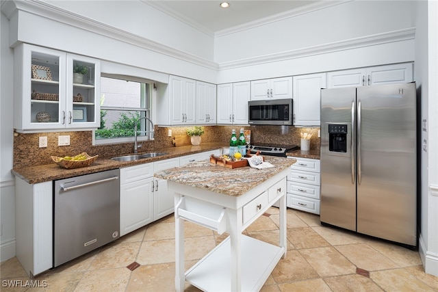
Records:
M327 88L408 83L412 81L412 63L374 66L327 73Z

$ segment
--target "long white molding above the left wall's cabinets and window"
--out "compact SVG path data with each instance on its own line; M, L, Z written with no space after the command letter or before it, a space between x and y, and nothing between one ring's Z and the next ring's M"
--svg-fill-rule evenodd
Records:
M112 27L110 25L105 25L104 23L99 23L91 18L69 12L62 8L57 8L56 6L50 5L44 1L40 0L24 0L24 1L6 1L12 2L14 5L1 5L3 11L3 6L5 7L5 12L7 12L8 18L16 11L23 11L31 14L35 14L44 18L48 18L52 21L57 21L58 23L64 23L72 27L77 27L85 31L90 31L94 34L99 34L107 38L112 38L114 40L119 40L128 44L133 44L134 46L141 47L162 55L168 55L169 57L174 57L181 59L185 62L190 62L198 66L203 66L212 70L218 70L218 64L209 61L202 57L192 55L177 49L173 49L159 42L154 42L147 38L137 36L136 34L131 34L128 31ZM14 7L12 7L14 6Z

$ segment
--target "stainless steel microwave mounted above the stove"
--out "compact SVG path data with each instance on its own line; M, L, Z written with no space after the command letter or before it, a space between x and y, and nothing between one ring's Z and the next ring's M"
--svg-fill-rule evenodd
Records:
M248 101L248 124L281 124L292 126L292 98Z

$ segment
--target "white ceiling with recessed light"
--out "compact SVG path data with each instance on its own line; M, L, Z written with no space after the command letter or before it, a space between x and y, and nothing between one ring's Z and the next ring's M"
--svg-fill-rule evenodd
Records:
M227 1L230 3L230 7L226 9L220 8L220 3L223 1L145 0L144 2L208 34L216 34L218 31L246 25L256 20L259 21L261 18L283 14L289 10L297 10L322 0L231 0Z

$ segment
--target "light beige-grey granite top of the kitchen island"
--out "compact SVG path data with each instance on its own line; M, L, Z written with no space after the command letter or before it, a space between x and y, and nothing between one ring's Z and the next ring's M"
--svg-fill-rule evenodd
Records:
M203 160L155 172L154 176L219 194L240 196L296 162L295 159L272 156L265 156L265 161L275 167L263 170L249 166L231 169Z

